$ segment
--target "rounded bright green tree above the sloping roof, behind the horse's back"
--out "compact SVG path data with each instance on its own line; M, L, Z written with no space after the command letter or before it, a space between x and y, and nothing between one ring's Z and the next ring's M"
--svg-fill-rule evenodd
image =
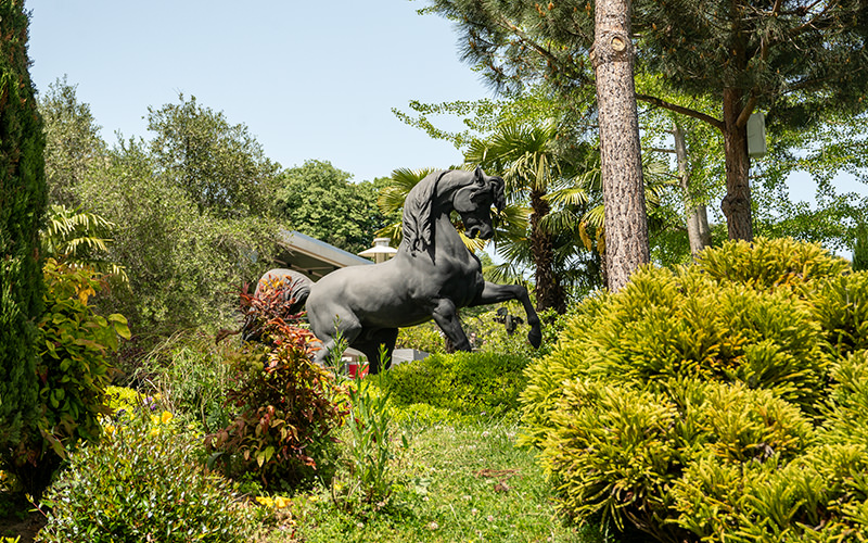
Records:
M276 213L294 230L359 253L371 247L385 217L376 209L373 184L350 182L352 177L322 161L286 169L276 194Z

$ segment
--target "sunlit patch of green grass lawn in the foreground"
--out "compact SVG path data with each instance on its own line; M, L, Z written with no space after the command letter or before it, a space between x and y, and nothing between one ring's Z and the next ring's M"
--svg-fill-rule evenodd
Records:
M332 497L331 488L318 488L292 496L259 541L613 541L597 527L569 526L558 517L534 452L515 447L516 424L409 422L399 431L409 446L397 446L392 465L396 484L387 500L347 505ZM339 475L335 494L342 480Z

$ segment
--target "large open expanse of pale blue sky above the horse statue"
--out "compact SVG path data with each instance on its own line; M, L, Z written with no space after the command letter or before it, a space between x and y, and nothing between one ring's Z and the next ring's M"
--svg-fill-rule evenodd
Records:
M26 0L37 89L67 76L103 138L150 137L148 106L195 96L283 166L355 180L448 167L460 153L403 124L410 100L490 97L448 22L408 0Z

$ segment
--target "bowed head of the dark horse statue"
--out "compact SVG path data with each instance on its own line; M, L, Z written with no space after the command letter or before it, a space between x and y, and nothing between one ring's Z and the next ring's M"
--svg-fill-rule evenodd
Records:
M452 207L461 215L464 232L471 239L490 239L495 235L492 206L501 212L506 203L503 179L485 175L478 166L470 181L458 188L452 197Z

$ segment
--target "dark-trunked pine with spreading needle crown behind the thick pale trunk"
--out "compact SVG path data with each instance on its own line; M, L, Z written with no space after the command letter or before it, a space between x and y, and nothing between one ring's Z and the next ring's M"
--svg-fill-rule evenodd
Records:
M456 21L467 59L499 84L547 77L567 92L592 79L592 2L433 0ZM868 108L868 2L865 0L637 0L638 70L717 100L718 113L659 96L637 99L705 122L724 136L730 238L751 239L746 124L808 126L834 111Z

